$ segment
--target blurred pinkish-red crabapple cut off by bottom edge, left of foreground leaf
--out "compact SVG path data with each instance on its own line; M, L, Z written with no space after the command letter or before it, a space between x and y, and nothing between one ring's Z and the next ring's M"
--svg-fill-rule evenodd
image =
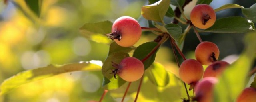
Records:
M218 82L216 77L205 77L195 86L195 97L197 102L213 102L214 84Z

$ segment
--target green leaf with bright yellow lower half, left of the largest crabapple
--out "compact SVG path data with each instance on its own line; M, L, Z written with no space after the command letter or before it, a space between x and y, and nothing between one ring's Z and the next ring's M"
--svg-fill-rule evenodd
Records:
M112 41L104 36L104 34L111 33L112 24L110 21L86 23L79 30L87 39L97 43L110 44Z

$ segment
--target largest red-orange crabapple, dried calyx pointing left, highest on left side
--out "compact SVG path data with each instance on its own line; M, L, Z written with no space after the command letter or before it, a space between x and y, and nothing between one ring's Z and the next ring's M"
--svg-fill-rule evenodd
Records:
M105 35L122 47L130 47L140 39L141 27L134 18L122 16L115 20L111 32Z

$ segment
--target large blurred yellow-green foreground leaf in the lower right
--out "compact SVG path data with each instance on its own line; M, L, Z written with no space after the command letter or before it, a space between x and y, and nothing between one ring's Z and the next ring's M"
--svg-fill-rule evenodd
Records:
M245 36L245 48L239 59L228 67L214 89L215 102L234 102L248 82L248 72L252 67L256 51L256 32ZM235 77L234 77L235 76Z

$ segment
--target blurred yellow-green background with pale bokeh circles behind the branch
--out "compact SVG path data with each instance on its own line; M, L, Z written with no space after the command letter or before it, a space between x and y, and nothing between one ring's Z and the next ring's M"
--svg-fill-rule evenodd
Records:
M147 0L39 1L8 0L7 4L4 4L4 0L0 0L0 83L20 71L45 67L51 63L65 64L90 60L104 62L109 45L92 42L82 37L79 28L88 22L104 20L113 22L120 16L131 16L138 19L141 16L141 7L148 4ZM28 6L29 3L32 3L30 4L32 6ZM213 8L218 8L228 3L248 8L255 3L255 0L213 0L210 5ZM192 6L193 2L191 6L185 8L186 15L189 15ZM36 9L38 7L40 8ZM242 16L242 13L240 9L236 8L217 12L217 19L228 16ZM171 22L172 19L165 18L165 22ZM141 26L147 26L146 20L140 19L139 22ZM182 25L182 28L185 29L186 26ZM200 33L200 35L203 41L212 41L218 45L220 59L226 58L225 61L235 60L244 48L242 43L244 34L242 33ZM153 33L144 32L135 46L152 41L155 37L156 35ZM187 58L193 58L194 49L198 43L196 35L191 30L186 36L183 49ZM166 41L156 55L156 62L162 63L166 70L177 75L177 65L174 60L170 42ZM4 96L0 96L0 102L99 100L103 92L102 78L101 71L79 71L56 75L24 84ZM120 101L125 88L113 91L116 94L108 93L104 102ZM136 90L136 87L133 90ZM135 95L132 92L130 94ZM150 97L144 98L145 100L150 99ZM155 102L157 99L150 100ZM173 101L179 102L180 100Z

